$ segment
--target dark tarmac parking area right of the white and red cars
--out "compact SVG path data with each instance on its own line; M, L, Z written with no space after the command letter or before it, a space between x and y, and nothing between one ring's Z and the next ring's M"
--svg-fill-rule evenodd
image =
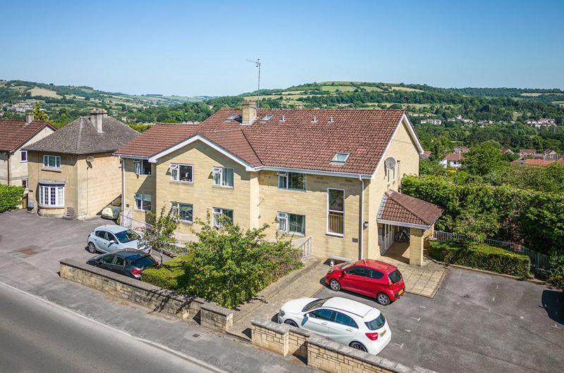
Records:
M435 298L406 293L383 307L369 298L324 288L379 308L391 343L380 353L437 372L561 372L564 296L529 282L450 268Z

